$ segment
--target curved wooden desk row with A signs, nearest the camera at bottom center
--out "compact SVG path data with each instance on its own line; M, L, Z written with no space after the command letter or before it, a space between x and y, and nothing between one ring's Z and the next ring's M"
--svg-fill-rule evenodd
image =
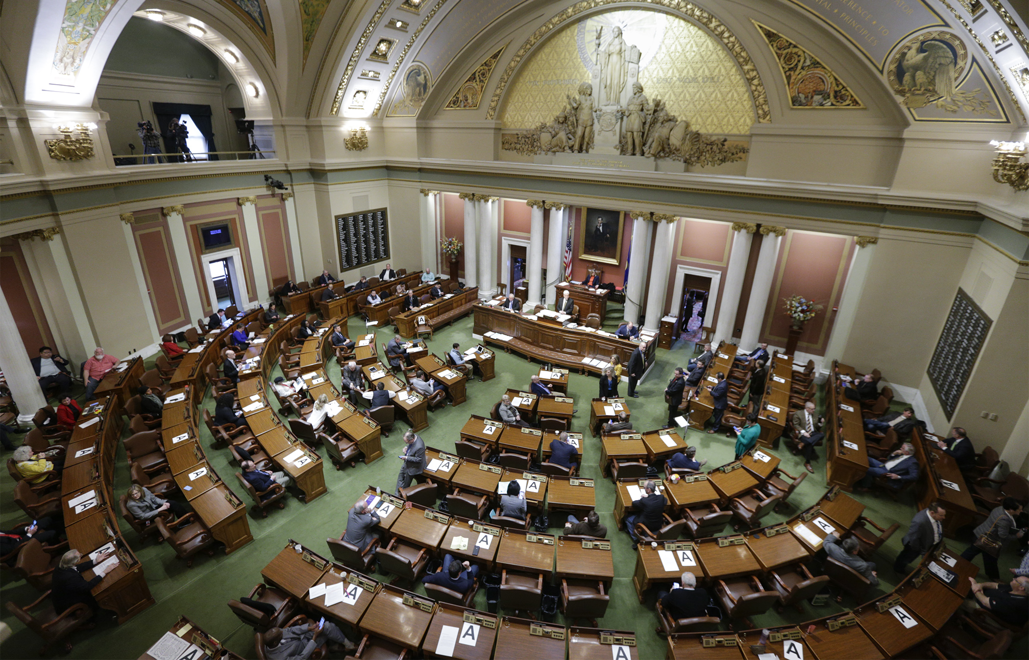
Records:
M417 510L405 511L415 515ZM419 512L420 513L420 512ZM440 514L442 515L442 514ZM511 533L512 535L517 533ZM553 537L546 537L553 541ZM503 547L506 537L500 544ZM558 543L561 543L560 541ZM528 544L549 550L575 548L578 552L610 551L581 549L579 541L562 545ZM487 658L610 660L612 657L637 659L636 633L626 630L558 626L513 617L498 617L456 604L437 602L427 596L383 584L363 574L330 561L309 548L290 541L261 570L264 582L294 598L314 617L325 617L347 624L358 633L379 637L426 657L454 657L469 660ZM343 601L326 606L324 588L343 584ZM324 588L323 588L324 585ZM315 595L312 597L312 587ZM338 587L335 587L338 589ZM334 599L334 598L333 598ZM445 626L456 630L446 630ZM440 637L457 635L458 644ZM471 644L473 641L474 644ZM612 654L612 645L618 645Z

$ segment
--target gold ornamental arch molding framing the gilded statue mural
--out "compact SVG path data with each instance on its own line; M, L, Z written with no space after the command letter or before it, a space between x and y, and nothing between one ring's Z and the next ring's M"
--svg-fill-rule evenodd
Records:
M943 1L946 4L946 0ZM634 6L635 3L630 5L627 0L580 0L537 28L532 36L529 37L526 42L522 44L522 47L518 49L514 57L510 59L510 62L507 63L507 68L504 69L503 75L500 76L500 80L497 81L496 89L493 90L493 98L490 99L490 106L486 110L486 118L493 119L496 116L497 108L500 106L500 99L504 95L504 89L506 89L507 83L514 75L514 71L519 68L519 65L525 57L536 47L536 44L543 41L551 33L580 13L597 9L599 7L613 8L620 4L636 8ZM743 44L740 43L740 40L728 27L725 27L721 21L719 21L714 14L698 7L691 2L687 2L686 0L648 0L647 4L666 7L675 11L680 16L688 19L702 26L719 41L721 41L722 45L724 45L729 52L736 59L736 63L740 66L740 71L743 73L743 77L747 80L747 84L750 87L750 98L754 103L754 114L757 116L758 123L771 123L772 111L769 108L768 93L765 91L765 84L761 82L761 77L757 72L757 67L754 66L753 61L747 53L746 48L743 47Z

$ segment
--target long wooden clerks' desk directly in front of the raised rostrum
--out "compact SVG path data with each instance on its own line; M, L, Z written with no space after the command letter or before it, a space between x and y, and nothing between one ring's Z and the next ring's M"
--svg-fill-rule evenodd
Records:
M501 346L505 352L520 353L527 358L535 358L540 362L549 362L579 373L601 373L601 368L583 363L583 358L610 361L611 356L618 356L624 364L629 364L633 351L640 345L631 339L618 339L614 335L600 334L596 331L578 328L564 328L557 321L498 309L495 305L475 304L474 326L472 336L480 341ZM509 339L487 336L487 333L500 333ZM657 341L649 341L643 351L644 369L653 364L657 353Z

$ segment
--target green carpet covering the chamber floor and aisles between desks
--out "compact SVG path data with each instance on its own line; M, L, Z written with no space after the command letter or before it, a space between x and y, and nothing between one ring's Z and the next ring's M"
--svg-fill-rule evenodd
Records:
M613 320L618 310L612 309L608 318ZM350 322L352 334L363 333L363 324L358 319ZM449 328L435 333L429 340L429 349L442 356L454 341L460 341L463 349L472 344L471 319L463 319ZM608 323L608 326L611 326ZM387 340L386 331L380 330L377 341ZM672 369L685 364L693 356L693 344L676 342L671 351L659 350L658 359L645 382L638 389L639 399L630 399L632 421L635 429L647 431L664 425L667 419L667 408L662 392L668 381ZM429 413L429 428L420 434L425 443L439 449L453 451L454 441L458 431L470 414L488 415L491 406L499 400L508 388L527 389L529 377L539 368L536 363L524 358L503 353L497 354L496 377L489 382L475 381L468 386L468 400L459 406L446 406ZM888 369L884 368L884 371ZM340 381L340 369L334 362L328 365L328 372L334 382ZM626 393L627 383L623 382L620 392ZM596 377L572 375L569 379L568 395L575 398L578 413L573 419L574 431L586 431L589 423L589 402L598 393ZM271 394L270 394L271 398ZM896 405L902 405L895 402ZM213 410L214 402L210 396L204 406ZM287 539L293 539L311 547L316 552L328 554L325 539L329 536L339 537L345 527L347 511L359 493L369 484L382 486L392 491L396 483L399 462L394 457L402 446L402 433L406 429L403 423L398 423L389 438L383 438L384 457L370 466L358 465L354 469L336 471L329 461L324 461L325 482L328 492L315 502L305 505L293 497L287 500L283 511L272 510L267 519L250 517L250 530L254 540L233 555L226 557L218 551L214 557L199 555L192 569L187 569L175 553L164 545L152 542L139 545L136 534L120 520L121 531L129 540L133 550L142 561L146 574L146 582L156 604L137 615L121 626L105 623L92 631L80 631L73 635L75 647L70 655L73 658L137 658L162 635L174 621L185 615L197 622L207 632L220 639L232 651L253 658L253 633L243 625L228 610L225 602L232 598L247 595L250 589L261 581L260 570L285 545ZM208 457L218 474L226 483L241 494L249 506L246 493L240 492L232 478L235 466L230 465L227 449L210 448L211 436L206 428L200 430L201 439L208 452ZM127 427L128 434L128 427ZM697 431L688 433L690 444L699 447L698 457L707 459L708 467L722 465L733 460L735 440L724 435L707 435ZM15 438L17 442L17 438ZM324 452L322 452L324 455ZM615 580L611 588L611 602L607 616L600 621L601 626L622 630L635 630L638 634L640 658L663 658L666 644L664 638L653 633L655 619L652 597L640 604L633 588L632 573L635 566L635 555L631 548L629 537L622 531L615 531L612 515L614 489L608 480L600 479L599 449L596 440L588 439L583 450L581 473L584 477L597 478L597 510L601 520L608 526L609 538L613 540ZM775 452L782 459L782 467L790 474L797 475L804 471L802 461L793 456L780 445ZM119 449L115 470L115 497L125 492L130 484L129 469L125 461L125 451ZM791 503L779 513L773 513L765 519L766 524L785 520L805 505L815 502L825 491L824 464L815 464L815 474L810 475L793 493ZM0 528L22 521L24 513L13 504L11 499L12 483L8 480L0 503ZM882 548L876 557L880 570L881 588L889 590L895 584L897 577L893 574L892 559L900 550L900 539L915 513L913 501L910 499L894 503L886 497L857 496L867 505L865 515L876 520L882 526L893 522L900 523L900 529ZM552 531L558 531L557 528ZM966 547L970 539L951 541L951 547L958 550ZM981 561L981 560L979 560ZM1013 549L1005 549L1000 559L1001 572L1008 575L1007 569L1018 565L1019 557ZM982 563L980 563L982 565ZM14 601L28 604L34 600L37 592L21 580L12 580L10 573L2 575L2 598L4 601ZM378 576L386 581L389 578ZM417 589L424 592L421 585ZM835 601L820 608L805 604L806 611L797 615L795 611L787 611L780 616L774 610L768 614L755 617L757 626L775 626L785 622L800 622L809 619L828 616L844 608L852 608L856 603L844 599L842 607ZM475 607L486 609L485 589L480 590L475 597ZM503 614L501 612L501 614ZM2 647L5 658L36 657L40 647L38 637L25 628L6 610L3 611L3 622L12 628L13 634ZM559 614L558 623L563 623ZM1022 639L1013 647L1007 657L1026 657L1026 640Z

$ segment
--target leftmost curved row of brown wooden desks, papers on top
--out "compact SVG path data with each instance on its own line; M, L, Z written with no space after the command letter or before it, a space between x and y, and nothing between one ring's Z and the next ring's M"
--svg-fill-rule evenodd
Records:
M121 441L120 409L118 397L111 393L86 405L79 416L65 454L61 510L70 549L81 552L83 558L108 546L115 551L117 565L93 588L93 596L123 623L154 600L143 565L118 529L112 484ZM94 577L93 571L82 575L86 580Z

